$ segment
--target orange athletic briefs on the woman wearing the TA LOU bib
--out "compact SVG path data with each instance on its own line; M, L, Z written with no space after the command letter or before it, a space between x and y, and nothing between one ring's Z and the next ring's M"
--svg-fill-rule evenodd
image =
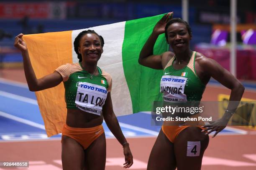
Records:
M62 129L62 137L65 135L76 140L84 149L87 149L102 133L104 133L102 125L92 128L72 128L65 124Z

